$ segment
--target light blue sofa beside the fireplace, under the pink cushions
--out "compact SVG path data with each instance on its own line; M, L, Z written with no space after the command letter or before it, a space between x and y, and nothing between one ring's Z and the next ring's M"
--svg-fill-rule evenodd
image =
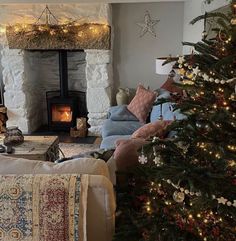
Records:
M171 92L165 89L159 89L156 102L161 99L169 98ZM147 122L154 123L157 120L180 120L184 116L179 110L173 109L173 102L164 104L153 104ZM108 111L107 120L102 126L102 142L100 148L115 149L116 143L120 139L130 139L132 134L146 123L141 123L139 119L131 113L127 105L112 106Z

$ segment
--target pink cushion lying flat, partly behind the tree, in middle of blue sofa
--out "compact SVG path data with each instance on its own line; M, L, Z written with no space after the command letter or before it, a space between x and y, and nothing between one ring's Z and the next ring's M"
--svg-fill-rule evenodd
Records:
M166 134L166 128L172 121L158 120L153 123L148 123L132 134L132 138L144 138L148 139L151 136L158 136L163 138Z

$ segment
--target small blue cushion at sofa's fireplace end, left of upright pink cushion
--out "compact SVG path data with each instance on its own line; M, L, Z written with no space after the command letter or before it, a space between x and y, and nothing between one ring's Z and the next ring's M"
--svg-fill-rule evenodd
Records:
M138 121L128 109L127 105L112 106L108 112L108 118L113 121Z

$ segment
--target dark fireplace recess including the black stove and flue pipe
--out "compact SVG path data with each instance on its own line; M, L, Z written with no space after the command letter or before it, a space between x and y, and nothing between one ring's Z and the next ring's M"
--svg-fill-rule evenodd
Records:
M88 115L85 73L81 73L80 78L75 79L76 74L80 74L81 71L85 72L85 64L83 64L84 67L82 68L82 65L78 67L78 63L85 62L85 57L82 58L82 56L85 56L84 51L45 49L26 50L25 53L27 56L25 65L29 65L28 62L30 62L28 69L31 72L36 72L35 75L39 76L34 82L39 80L44 82L42 83L44 86L38 88L37 93L41 95L43 108L35 105L36 109L38 107L39 112L41 112L43 122L33 132L68 132L71 127L76 126L76 118L87 118ZM78 58L81 61L78 61ZM45 72L45 69L49 74L42 73ZM71 78L73 79L72 83ZM76 86L76 82L81 81L83 83L80 83L80 85L77 83ZM38 100L38 102L41 101Z

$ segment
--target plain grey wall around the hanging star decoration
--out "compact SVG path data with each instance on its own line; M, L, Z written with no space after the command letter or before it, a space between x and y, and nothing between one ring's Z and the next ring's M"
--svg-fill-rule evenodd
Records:
M113 4L114 82L116 87L136 88L139 83L157 89L163 78L155 74L157 57L182 53L184 4L179 3L124 3ZM137 22L144 21L149 11L157 38L150 34L139 37Z

